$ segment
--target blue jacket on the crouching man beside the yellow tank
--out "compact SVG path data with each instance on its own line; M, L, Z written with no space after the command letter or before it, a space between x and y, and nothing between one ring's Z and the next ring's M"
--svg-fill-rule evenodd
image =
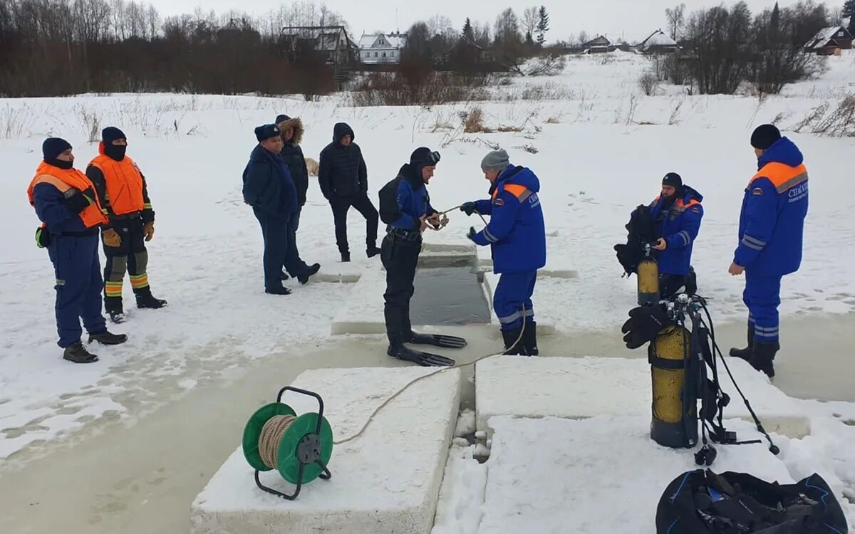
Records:
M700 202L704 197L688 185L683 186L683 197L678 198L669 208L668 214L656 225L658 235L665 239L668 247L657 250L656 259L659 273L688 274L692 263L692 249L698 238L700 221L704 218L704 208ZM667 199L657 197L650 204L650 214L656 221Z

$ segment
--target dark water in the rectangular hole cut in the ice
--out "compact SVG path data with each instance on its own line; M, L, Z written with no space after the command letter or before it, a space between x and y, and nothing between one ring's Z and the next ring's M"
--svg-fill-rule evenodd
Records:
M471 267L420 267L410 301L412 324L488 324L490 308L479 276Z

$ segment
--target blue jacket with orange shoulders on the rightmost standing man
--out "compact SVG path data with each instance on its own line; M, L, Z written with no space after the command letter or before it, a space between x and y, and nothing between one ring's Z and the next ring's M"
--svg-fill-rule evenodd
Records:
M762 276L799 270L808 206L807 167L788 138L758 159L740 213L740 244L734 262Z

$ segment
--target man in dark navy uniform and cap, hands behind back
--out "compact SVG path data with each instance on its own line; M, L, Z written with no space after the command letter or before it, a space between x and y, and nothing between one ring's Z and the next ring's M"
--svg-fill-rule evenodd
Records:
M264 238L264 292L289 295L282 285L282 266L288 252L288 220L298 210L297 189L285 161L279 157L282 138L279 128L266 124L256 128L258 146L244 169L244 202L252 206Z

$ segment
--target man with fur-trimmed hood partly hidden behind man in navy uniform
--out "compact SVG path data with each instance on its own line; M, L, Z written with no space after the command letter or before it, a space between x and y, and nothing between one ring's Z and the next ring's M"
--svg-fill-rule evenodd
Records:
M288 220L288 252L285 267L288 274L297 277L300 284L309 281L309 277L321 269L321 264L307 265L300 258L297 248L297 230L300 226L300 212L306 203L306 192L309 191L309 170L306 168L306 160L300 141L303 139L303 121L299 117L293 119L288 115L276 117L276 126L282 132L282 151L279 153L282 161L288 166L294 187L297 189L297 211L291 214Z

